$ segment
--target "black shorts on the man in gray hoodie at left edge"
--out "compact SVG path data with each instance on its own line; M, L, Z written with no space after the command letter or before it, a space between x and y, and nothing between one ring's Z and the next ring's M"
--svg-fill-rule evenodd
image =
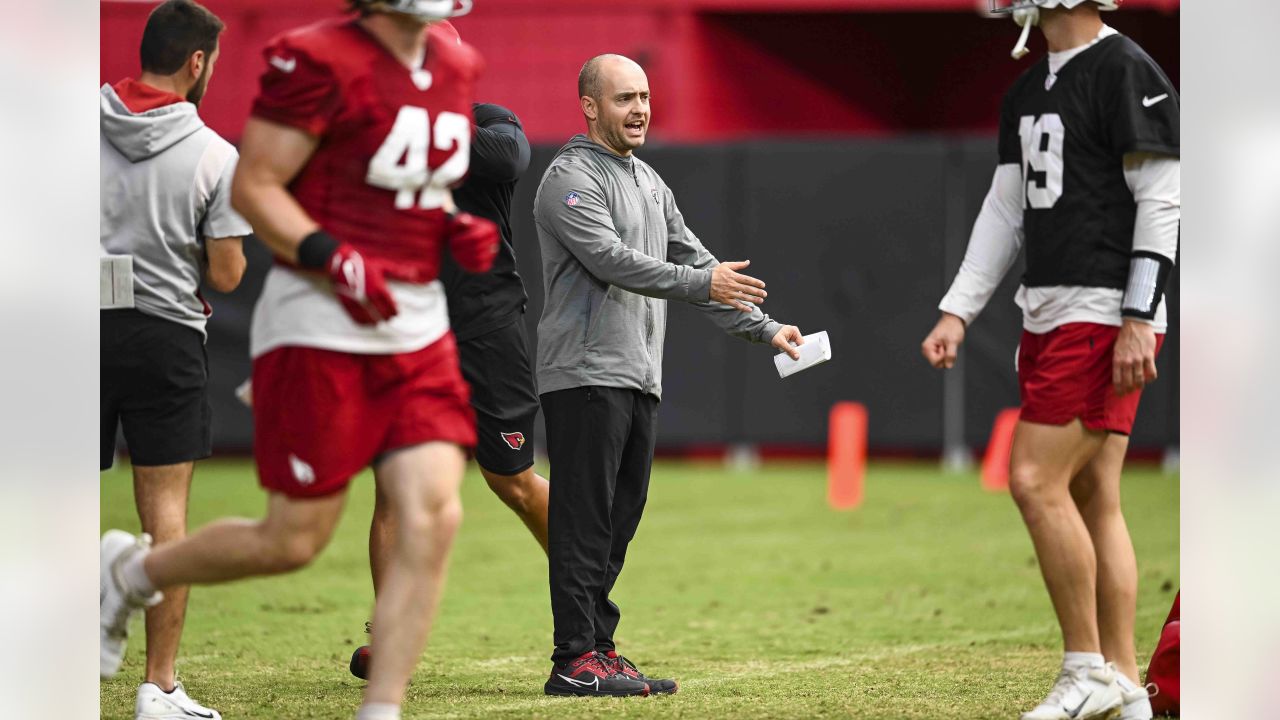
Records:
M101 455L115 457L115 432L134 465L175 465L212 452L209 357L198 331L137 310L102 310Z

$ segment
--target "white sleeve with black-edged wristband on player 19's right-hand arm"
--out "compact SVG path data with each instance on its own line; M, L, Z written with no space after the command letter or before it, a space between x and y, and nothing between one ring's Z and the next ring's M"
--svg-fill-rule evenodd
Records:
M1121 313L1153 322L1165 283L1178 260L1181 164L1169 155L1130 152L1124 156L1124 179L1138 210Z

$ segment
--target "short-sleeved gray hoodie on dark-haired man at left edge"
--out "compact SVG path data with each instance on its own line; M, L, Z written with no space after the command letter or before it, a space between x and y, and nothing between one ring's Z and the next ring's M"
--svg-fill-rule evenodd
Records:
M133 304L205 332L205 238L252 228L230 206L236 147L191 102L134 114L109 85L101 97L102 255L133 258Z

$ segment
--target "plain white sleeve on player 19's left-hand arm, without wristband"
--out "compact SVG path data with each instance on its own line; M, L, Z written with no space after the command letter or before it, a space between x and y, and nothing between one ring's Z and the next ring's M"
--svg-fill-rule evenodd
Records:
M1014 266L1023 238L1023 169L998 165L973 223L960 272L938 310L957 315L966 325L973 323Z

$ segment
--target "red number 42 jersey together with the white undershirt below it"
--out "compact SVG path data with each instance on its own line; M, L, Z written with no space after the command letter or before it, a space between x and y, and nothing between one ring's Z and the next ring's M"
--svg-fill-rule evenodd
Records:
M389 282L399 313L358 325L316 273L278 263L253 310L250 352L399 354L438 341L449 329L434 279L444 252L442 205L467 173L480 55L434 24L425 58L411 68L358 20L334 19L274 38L264 58L253 115L320 140L289 191L338 241L420 282Z

